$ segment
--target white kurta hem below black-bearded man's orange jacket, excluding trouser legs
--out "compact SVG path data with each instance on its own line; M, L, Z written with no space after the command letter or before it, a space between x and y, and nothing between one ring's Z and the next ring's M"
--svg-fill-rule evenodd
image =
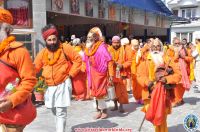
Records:
M66 79L63 83L57 86L49 86L45 92L45 106L67 107L71 104L72 83L71 79Z

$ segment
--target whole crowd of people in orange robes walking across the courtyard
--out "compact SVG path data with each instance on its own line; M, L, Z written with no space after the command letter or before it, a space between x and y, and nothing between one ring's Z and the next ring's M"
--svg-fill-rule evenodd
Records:
M73 35L70 42L61 42L56 27L48 24L42 29L46 47L32 62L23 44L10 35L12 22L10 12L1 9L2 130L21 132L36 117L30 93L41 70L48 85L45 106L56 118L57 132L66 130L71 98L93 100L97 111L94 119L109 117L106 105L109 86L115 88L116 94L111 111L126 112L123 106L129 104L128 94L132 91L155 131L167 132L167 115L173 107L184 104L185 91L190 90L192 83L200 91L200 35L195 44L174 38L172 44L164 45L159 38L141 43L137 39L113 36L109 45L100 28L93 27L86 41Z

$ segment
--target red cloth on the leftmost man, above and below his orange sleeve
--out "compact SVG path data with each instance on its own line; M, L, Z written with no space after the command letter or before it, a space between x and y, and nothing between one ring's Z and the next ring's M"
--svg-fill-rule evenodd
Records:
M16 78L19 78L17 71L0 62L0 94L3 97L12 94L9 92L5 93L5 87L8 83L14 82ZM17 90L17 89L16 89ZM10 109L6 112L0 113L0 123L3 124L14 124L14 125L27 125L33 121L36 117L36 109L31 102L31 96L22 104L17 105L15 108Z

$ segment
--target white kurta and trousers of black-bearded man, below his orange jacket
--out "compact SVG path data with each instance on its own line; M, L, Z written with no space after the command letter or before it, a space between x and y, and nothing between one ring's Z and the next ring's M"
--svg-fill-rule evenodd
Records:
M56 132L65 132L67 106L71 104L72 83L66 79L57 86L49 86L45 92L45 106L51 108L56 121Z

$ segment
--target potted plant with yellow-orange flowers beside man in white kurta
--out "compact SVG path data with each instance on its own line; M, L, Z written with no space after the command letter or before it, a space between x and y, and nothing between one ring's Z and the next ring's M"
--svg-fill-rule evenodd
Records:
M37 84L34 87L34 95L35 95L36 101L44 101L44 93L47 87L48 86L46 85L44 78L39 77Z

